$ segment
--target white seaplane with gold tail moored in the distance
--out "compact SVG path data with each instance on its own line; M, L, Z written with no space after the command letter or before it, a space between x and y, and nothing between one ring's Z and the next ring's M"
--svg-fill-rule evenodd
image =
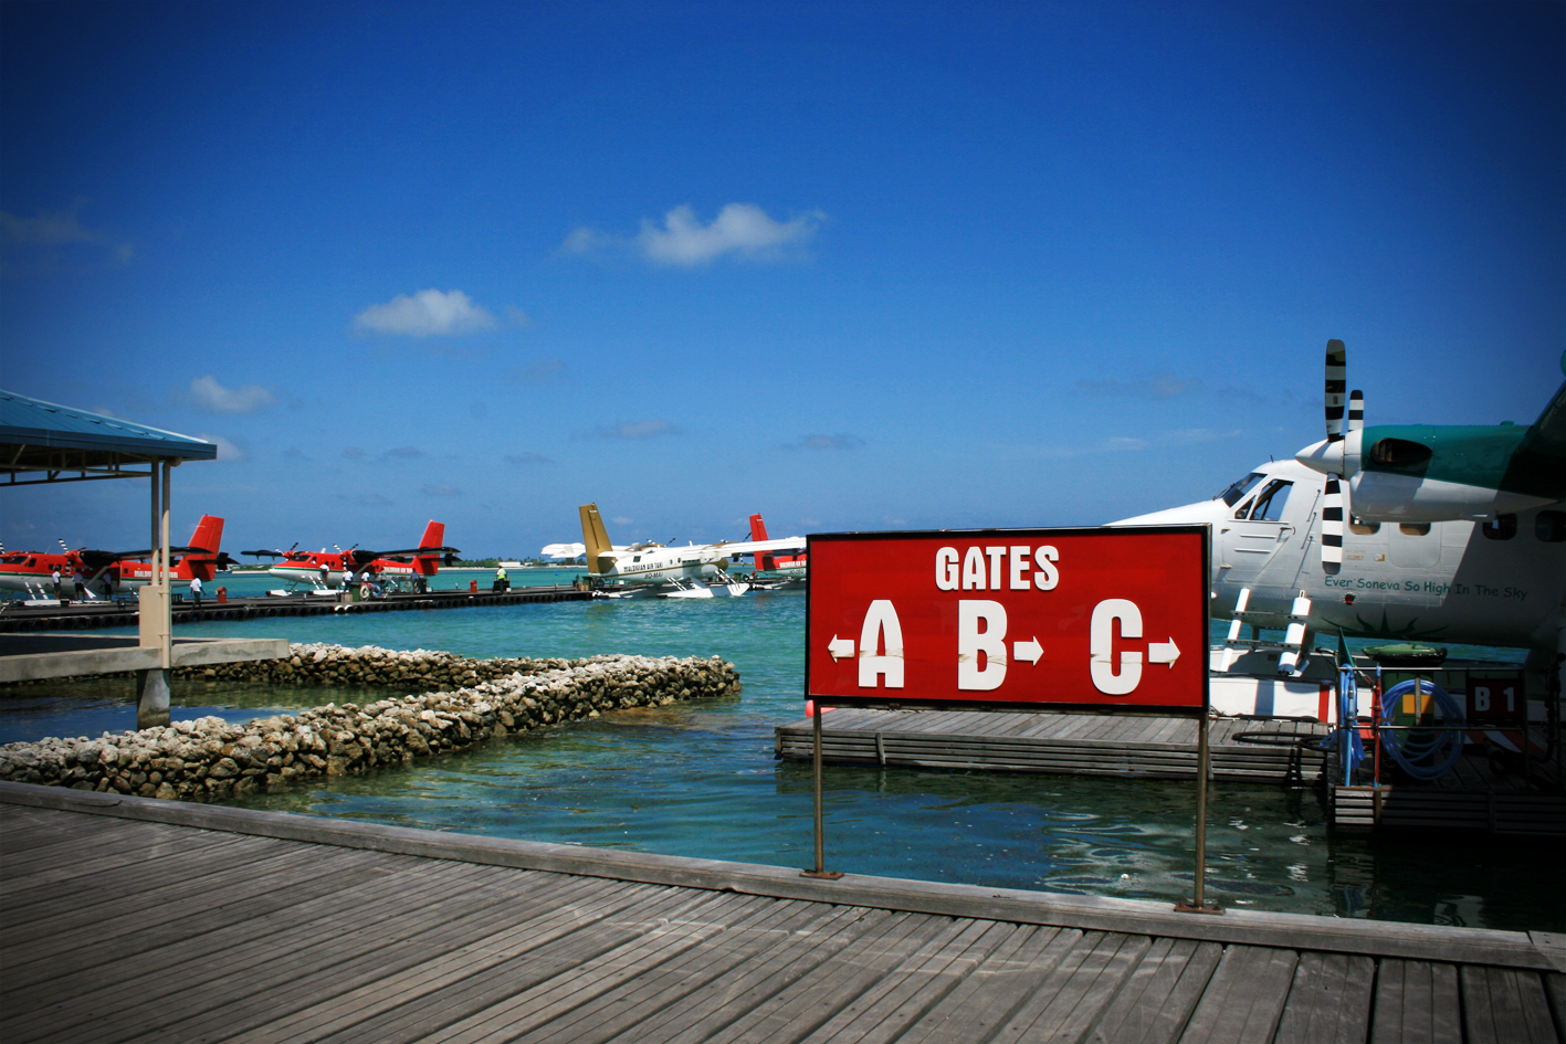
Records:
M750 584L730 579L725 567L744 554L802 551L803 537L778 540L720 540L683 548L662 543L611 543L597 504L578 509L583 543L550 545L542 554L568 557L584 554L589 576L603 581L595 593L604 598L722 598L744 595Z

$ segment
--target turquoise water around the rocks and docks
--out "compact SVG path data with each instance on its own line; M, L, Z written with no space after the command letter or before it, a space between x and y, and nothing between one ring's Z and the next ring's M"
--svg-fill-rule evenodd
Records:
M442 571L467 587L489 573ZM568 584L578 573L514 571ZM266 581L224 578L235 595ZM772 728L799 720L805 596L615 601L204 623L182 634L276 635L467 656L719 654L736 698L633 711L374 776L244 801L500 837L778 866L813 862L810 767L774 761ZM128 682L14 690L0 742L130 728ZM175 717L257 714L346 690L175 687ZM1182 783L825 769L827 866L1002 887L1176 902L1190 892L1195 787ZM1472 837L1330 836L1317 790L1214 784L1209 895L1226 906L1423 923L1566 930L1544 883L1558 847Z

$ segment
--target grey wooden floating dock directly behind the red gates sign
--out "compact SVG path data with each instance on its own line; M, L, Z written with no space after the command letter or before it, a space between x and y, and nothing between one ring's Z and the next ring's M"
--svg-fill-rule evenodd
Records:
M1195 718L838 707L821 722L828 764L1196 778ZM1326 769L1319 747L1326 733L1308 720L1215 718L1207 739L1211 778L1315 783ZM774 745L778 758L810 761L811 720L780 725Z

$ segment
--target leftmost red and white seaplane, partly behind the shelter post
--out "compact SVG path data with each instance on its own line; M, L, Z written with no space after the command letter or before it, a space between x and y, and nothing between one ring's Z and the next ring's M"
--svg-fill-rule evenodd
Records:
M222 520L202 515L191 542L183 548L169 548L179 556L169 570L171 582L189 582L200 578L210 582L218 570L236 565L222 553ZM143 560L147 559L147 560ZM80 596L86 599L111 598L125 589L152 582L152 551L94 551L70 549L60 542L60 554L50 551L5 551L0 546L0 590L23 592L30 603L55 603L58 595L77 592L75 576L81 574ZM60 592L55 592L55 573L60 573Z

